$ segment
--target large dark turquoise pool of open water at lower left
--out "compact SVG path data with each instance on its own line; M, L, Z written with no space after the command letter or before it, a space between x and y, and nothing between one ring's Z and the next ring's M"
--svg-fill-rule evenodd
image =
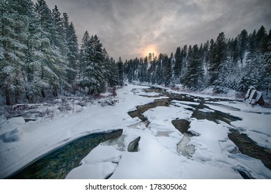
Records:
M100 143L122 135L122 130L80 137L42 156L8 179L65 179L68 172Z

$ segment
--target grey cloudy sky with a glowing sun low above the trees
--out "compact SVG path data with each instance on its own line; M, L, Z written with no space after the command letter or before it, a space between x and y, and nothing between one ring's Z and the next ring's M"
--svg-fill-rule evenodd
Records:
M46 0L73 21L79 43L86 30L97 34L114 59L175 52L205 43L220 32L271 28L270 0Z

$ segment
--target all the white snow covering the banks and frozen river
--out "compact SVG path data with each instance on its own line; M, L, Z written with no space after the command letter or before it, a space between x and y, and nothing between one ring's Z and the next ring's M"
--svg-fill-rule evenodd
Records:
M231 125L191 118L188 103L147 110L144 116L149 125L138 118L132 119L127 112L135 110L137 105L163 98L157 93L144 93L143 88L147 87L128 85L118 90L115 99L119 102L113 106L101 107L100 103L93 103L84 110L55 119L25 123L18 117L0 123L0 178L80 136L123 129L119 139L98 145L66 179L105 179L109 176L110 179L242 179L239 171L254 179L271 179L271 171L260 160L231 153L236 149L228 138ZM270 109L251 108L240 102L216 103L220 105L212 101L207 105L213 110L241 117L242 121L234 121L232 125L242 128L242 132L256 143L271 148ZM177 118L191 121L189 131L196 136L187 139L176 130L171 121ZM128 152L129 143L139 136L138 152ZM187 144L181 143L182 140ZM187 147L194 149L188 156L182 153Z

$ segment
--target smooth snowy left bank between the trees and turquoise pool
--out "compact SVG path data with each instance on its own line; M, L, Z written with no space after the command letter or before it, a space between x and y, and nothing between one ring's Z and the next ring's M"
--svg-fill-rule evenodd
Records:
M138 88L138 86L129 85L120 89L116 99L120 99L121 102L115 106L90 105L82 112L67 114L33 125L23 124L23 121L19 125L2 124L0 130L6 130L3 128L5 126L8 130L19 128L22 133L19 141L3 143L0 140L0 178L9 176L39 156L80 136L120 129L125 125L138 123L140 120L132 119L127 112L136 105L150 103L154 99L134 95L130 92L133 88Z

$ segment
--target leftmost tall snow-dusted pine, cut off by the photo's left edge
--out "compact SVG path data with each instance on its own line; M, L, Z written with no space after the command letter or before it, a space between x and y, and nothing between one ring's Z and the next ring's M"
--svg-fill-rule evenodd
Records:
M0 90L6 105L24 92L24 57L27 39L28 1L0 1Z

